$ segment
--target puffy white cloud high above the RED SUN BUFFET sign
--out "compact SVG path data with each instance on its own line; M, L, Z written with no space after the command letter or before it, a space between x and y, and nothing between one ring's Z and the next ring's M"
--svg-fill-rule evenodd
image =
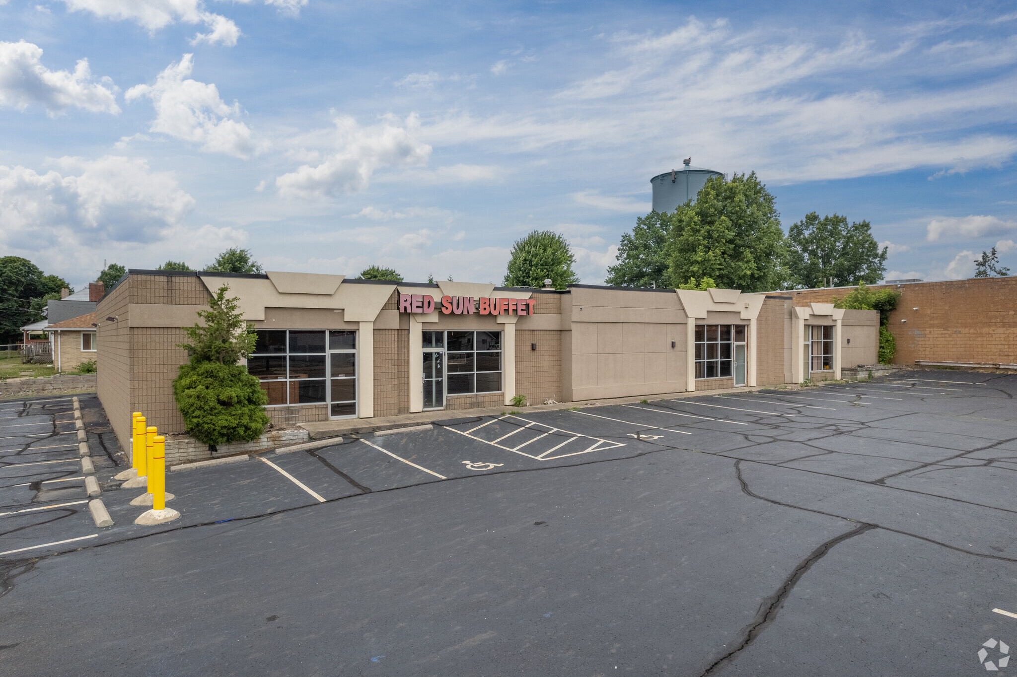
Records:
M321 199L357 193L367 187L375 170L386 167L420 167L427 164L431 146L414 138L419 126L415 116L404 123L388 118L381 124L361 127L343 116L335 119L333 147L317 166L304 165L276 179L287 198Z

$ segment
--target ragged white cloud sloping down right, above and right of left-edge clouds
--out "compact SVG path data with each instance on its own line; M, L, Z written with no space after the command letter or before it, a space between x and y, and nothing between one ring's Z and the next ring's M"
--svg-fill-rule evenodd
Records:
M141 97L152 100L156 119L148 131L200 143L208 152L249 158L253 152L251 131L230 118L240 115L240 105L227 106L215 84L187 78L193 68L193 55L185 54L179 63L171 63L161 72L155 84L135 85L124 98L128 102Z

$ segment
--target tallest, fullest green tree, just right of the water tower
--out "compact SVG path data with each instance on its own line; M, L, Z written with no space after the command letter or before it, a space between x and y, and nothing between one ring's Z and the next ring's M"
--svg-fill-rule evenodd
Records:
M711 278L718 287L766 292L784 283L784 232L773 195L753 172L713 177L670 217L671 284Z

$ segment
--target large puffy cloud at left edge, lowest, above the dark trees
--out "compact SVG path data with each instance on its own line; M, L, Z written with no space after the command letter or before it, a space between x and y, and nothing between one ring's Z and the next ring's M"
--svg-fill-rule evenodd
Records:
M194 199L144 160L63 158L39 174L0 166L0 243L41 251L104 242L145 243L178 227Z

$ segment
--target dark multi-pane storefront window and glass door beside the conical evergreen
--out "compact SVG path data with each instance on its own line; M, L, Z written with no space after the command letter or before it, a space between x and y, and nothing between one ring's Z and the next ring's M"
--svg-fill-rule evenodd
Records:
M356 331L259 329L247 371L268 406L331 402L332 416L356 413Z

